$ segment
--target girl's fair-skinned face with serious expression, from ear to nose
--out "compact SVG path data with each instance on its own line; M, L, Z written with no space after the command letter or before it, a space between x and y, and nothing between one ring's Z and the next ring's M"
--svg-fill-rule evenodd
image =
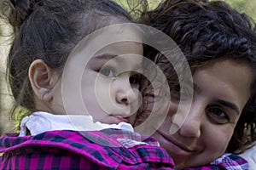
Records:
M103 36L106 37L93 37L89 45L78 48L67 60L62 85L61 80L55 84L55 113L90 115L95 122L117 124L128 122L128 116L137 112L141 103L138 89L143 45L139 42L117 41L100 47L108 38L128 36L138 40L137 35L129 29L117 28ZM88 51L94 48L99 50L88 59ZM84 62L83 59L88 60ZM74 79L79 80L79 83Z

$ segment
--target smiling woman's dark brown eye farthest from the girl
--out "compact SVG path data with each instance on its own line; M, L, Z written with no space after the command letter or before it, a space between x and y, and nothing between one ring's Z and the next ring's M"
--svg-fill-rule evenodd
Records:
M218 124L224 124L230 121L228 114L218 106L211 106L210 108L207 108L207 116L209 116L213 122Z

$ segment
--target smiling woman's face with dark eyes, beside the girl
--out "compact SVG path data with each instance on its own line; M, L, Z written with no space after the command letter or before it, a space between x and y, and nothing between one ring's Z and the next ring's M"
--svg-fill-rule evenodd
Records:
M253 72L245 63L228 58L207 63L193 75L193 99L186 116L177 113L178 88L171 90L168 116L154 137L177 168L208 164L224 153L250 97L252 81ZM183 124L171 135L171 125L180 119Z

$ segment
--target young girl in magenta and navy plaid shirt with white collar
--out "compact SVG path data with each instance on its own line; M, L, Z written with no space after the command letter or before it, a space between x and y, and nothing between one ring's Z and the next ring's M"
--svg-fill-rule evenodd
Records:
M108 0L1 6L15 31L12 114L26 115L20 137L0 139L1 169L172 168L157 141L127 123L140 104L143 46L123 8Z

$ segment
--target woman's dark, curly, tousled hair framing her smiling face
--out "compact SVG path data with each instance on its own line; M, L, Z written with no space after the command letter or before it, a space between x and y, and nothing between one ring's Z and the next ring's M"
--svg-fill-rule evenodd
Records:
M192 72L221 57L247 62L254 74L251 96L227 151L235 152L252 144L256 139L256 33L253 20L221 1L166 0L158 8L145 11L141 22L170 36L183 51ZM155 56L152 50L148 53ZM169 68L165 71L168 79L173 76L172 65L166 68Z

